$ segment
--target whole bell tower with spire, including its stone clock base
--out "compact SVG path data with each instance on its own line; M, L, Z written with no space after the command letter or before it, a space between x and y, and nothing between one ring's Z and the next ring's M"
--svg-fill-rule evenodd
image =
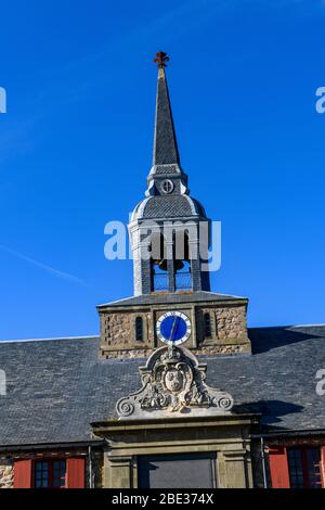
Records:
M102 358L146 357L164 344L195 353L250 353L245 297L210 292L209 226L190 194L159 52L153 164L129 224L134 295L100 305Z

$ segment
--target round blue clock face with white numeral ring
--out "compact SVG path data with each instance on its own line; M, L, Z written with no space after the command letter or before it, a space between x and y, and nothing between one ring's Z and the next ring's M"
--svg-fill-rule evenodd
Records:
M191 334L191 321L181 311L167 311L161 315L156 324L157 336L169 345L180 345Z

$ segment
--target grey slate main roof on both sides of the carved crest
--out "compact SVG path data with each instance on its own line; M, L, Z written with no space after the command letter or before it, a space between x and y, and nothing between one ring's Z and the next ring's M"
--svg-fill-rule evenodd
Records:
M265 430L325 428L325 326L249 330L253 355L206 357L207 382L233 394L235 411L262 412ZM90 423L140 388L144 359L99 360L99 337L0 342L8 394L0 396L0 446L87 441Z

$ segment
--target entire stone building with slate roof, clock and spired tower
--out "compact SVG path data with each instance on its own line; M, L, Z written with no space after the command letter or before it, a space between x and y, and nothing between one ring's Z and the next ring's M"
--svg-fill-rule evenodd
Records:
M0 487L324 487L325 326L248 329L211 292L156 61L134 296L98 307L100 336L0 342Z

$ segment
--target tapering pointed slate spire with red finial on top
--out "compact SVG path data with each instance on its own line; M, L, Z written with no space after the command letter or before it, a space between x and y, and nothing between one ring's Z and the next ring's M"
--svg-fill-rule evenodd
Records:
M167 79L165 75L166 62L169 56L164 51L156 54L158 84L156 101L156 122L153 165L180 165L178 142L170 107Z

